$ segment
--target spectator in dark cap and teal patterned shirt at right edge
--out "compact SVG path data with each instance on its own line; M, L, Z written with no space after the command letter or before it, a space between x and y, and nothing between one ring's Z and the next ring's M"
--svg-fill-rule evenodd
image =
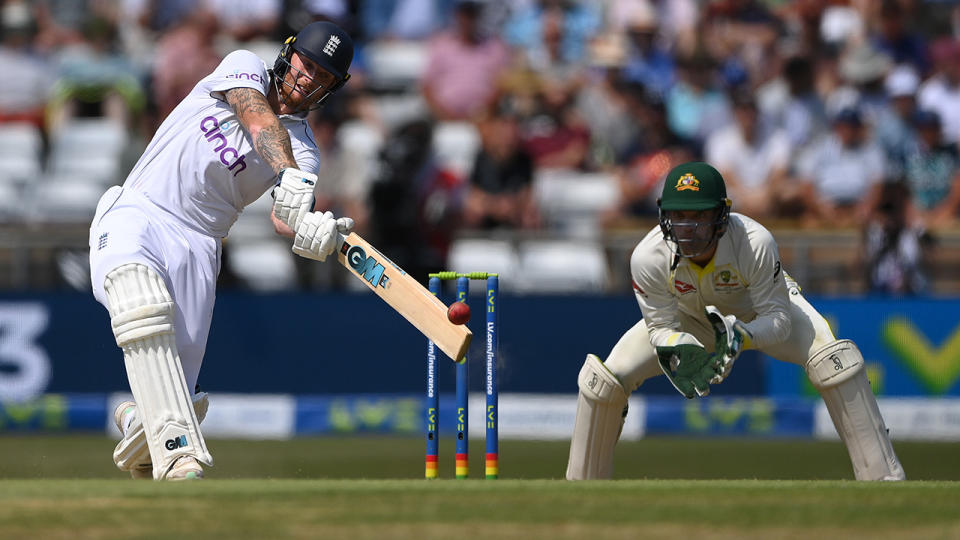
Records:
M943 140L940 117L920 110L914 115L915 144L905 160L913 217L929 228L954 225L960 210L960 155Z

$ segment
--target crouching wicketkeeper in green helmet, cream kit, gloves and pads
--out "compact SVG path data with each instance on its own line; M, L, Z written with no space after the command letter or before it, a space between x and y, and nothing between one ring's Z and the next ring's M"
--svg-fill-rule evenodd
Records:
M730 213L723 178L706 163L667 175L660 226L630 258L643 320L606 361L587 355L580 370L568 480L610 478L627 398L665 374L687 398L722 382L744 349L803 366L847 446L857 480L903 480L863 357L834 337L780 266L770 232Z

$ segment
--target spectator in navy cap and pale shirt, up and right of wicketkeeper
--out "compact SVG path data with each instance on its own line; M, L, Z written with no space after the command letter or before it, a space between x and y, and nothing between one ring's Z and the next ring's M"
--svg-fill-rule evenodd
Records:
M873 213L885 180L883 151L868 140L860 112L844 109L833 129L797 158L804 212L810 225L849 227Z

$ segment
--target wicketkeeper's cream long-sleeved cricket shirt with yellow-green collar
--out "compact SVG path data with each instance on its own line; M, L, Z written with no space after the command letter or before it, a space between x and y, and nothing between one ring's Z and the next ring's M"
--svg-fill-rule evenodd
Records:
M752 335L752 347L780 343L790 335L789 297L777 244L763 225L731 213L717 252L703 268L681 257L670 269L675 246L654 227L630 257L633 289L654 346L672 345L679 312L706 320L714 305L735 315Z

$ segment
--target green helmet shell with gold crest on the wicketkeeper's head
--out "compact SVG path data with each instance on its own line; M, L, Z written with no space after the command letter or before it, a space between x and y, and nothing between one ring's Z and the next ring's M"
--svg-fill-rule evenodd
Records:
M707 163L691 161L670 171L658 204L661 210L707 210L730 202L720 173Z

